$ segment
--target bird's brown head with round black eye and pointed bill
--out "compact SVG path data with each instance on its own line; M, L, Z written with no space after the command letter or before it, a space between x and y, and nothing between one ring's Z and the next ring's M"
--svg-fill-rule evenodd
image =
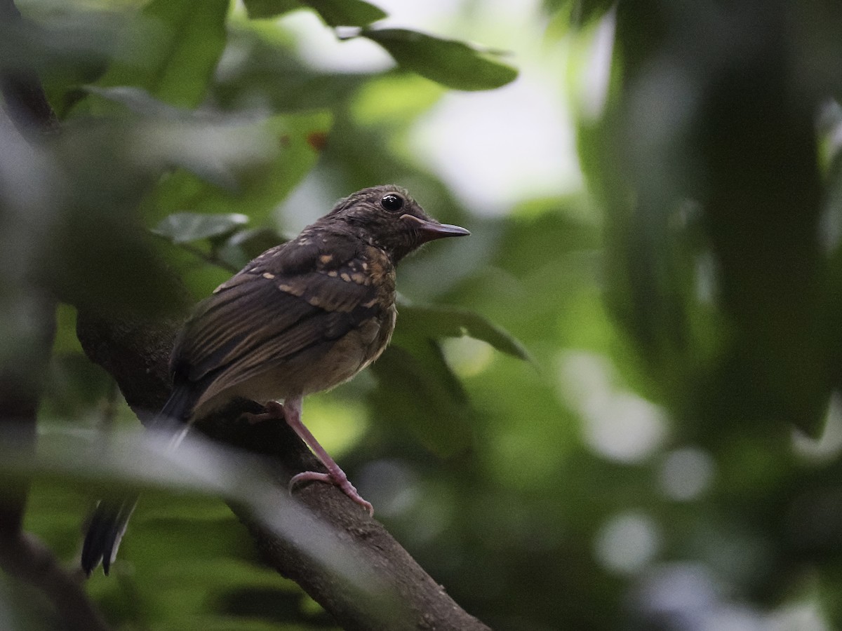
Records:
M396 263L427 241L471 234L434 220L406 190L392 184L363 188L339 200L328 218L344 222Z

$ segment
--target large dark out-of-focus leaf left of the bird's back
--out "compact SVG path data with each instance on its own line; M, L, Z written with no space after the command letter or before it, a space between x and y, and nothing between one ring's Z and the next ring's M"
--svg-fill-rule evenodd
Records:
M77 308L148 314L178 305L179 299L133 215L134 200L157 167L131 162L137 156L126 155L125 131L122 125L68 126L43 147L41 157L49 156L51 169L33 165L29 178L44 185L55 182L58 172L61 184L31 215L39 224L33 274Z

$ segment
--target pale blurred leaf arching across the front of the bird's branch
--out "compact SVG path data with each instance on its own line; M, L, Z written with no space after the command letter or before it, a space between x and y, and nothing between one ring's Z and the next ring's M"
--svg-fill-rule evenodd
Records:
M45 427L35 459L16 449L10 436L2 438L3 475L75 481L89 491L111 494L126 489L175 490L222 497L248 506L266 528L296 542L306 554L335 570L337 578L359 578L362 571L364 589L387 589L370 570L360 567L359 559L354 563L349 558L333 528L317 522L288 494L278 492L277 480L259 459L244 458L242 452L221 447L196 432L184 438L176 453L168 448L170 437L162 432L110 432L105 440L98 432Z

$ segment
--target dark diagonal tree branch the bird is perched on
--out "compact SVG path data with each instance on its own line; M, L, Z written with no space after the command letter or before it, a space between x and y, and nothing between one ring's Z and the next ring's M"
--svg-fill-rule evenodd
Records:
M176 327L172 322L109 321L80 314L77 334L88 357L112 374L129 405L148 417L168 396L167 358ZM208 437L263 456L277 472L278 493L286 493L290 474L322 469L295 433L279 422L242 422L243 404L204 419L197 429ZM264 528L247 510L231 506L246 524L266 562L296 581L345 629L440 629L488 631L466 613L412 559L392 536L333 485L310 484L296 490L301 501L322 522L338 532L343 551L397 595L399 612L384 610L382 597L338 581L330 570L314 563L295 542ZM335 542L333 542L335 543ZM388 607L386 607L388 608Z

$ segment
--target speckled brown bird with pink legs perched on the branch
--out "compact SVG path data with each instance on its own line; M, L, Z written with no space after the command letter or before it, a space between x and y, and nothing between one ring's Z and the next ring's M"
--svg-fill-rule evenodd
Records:
M308 480L328 482L373 514L301 421L303 398L344 383L380 357L395 327L402 258L428 241L469 234L434 220L393 184L340 199L195 306L175 339L172 394L152 427L182 427L175 433L183 436L235 398L257 401L266 409L258 416L283 417L328 470L294 475L290 491ZM96 506L83 542L86 575L100 562L109 573L137 498Z

